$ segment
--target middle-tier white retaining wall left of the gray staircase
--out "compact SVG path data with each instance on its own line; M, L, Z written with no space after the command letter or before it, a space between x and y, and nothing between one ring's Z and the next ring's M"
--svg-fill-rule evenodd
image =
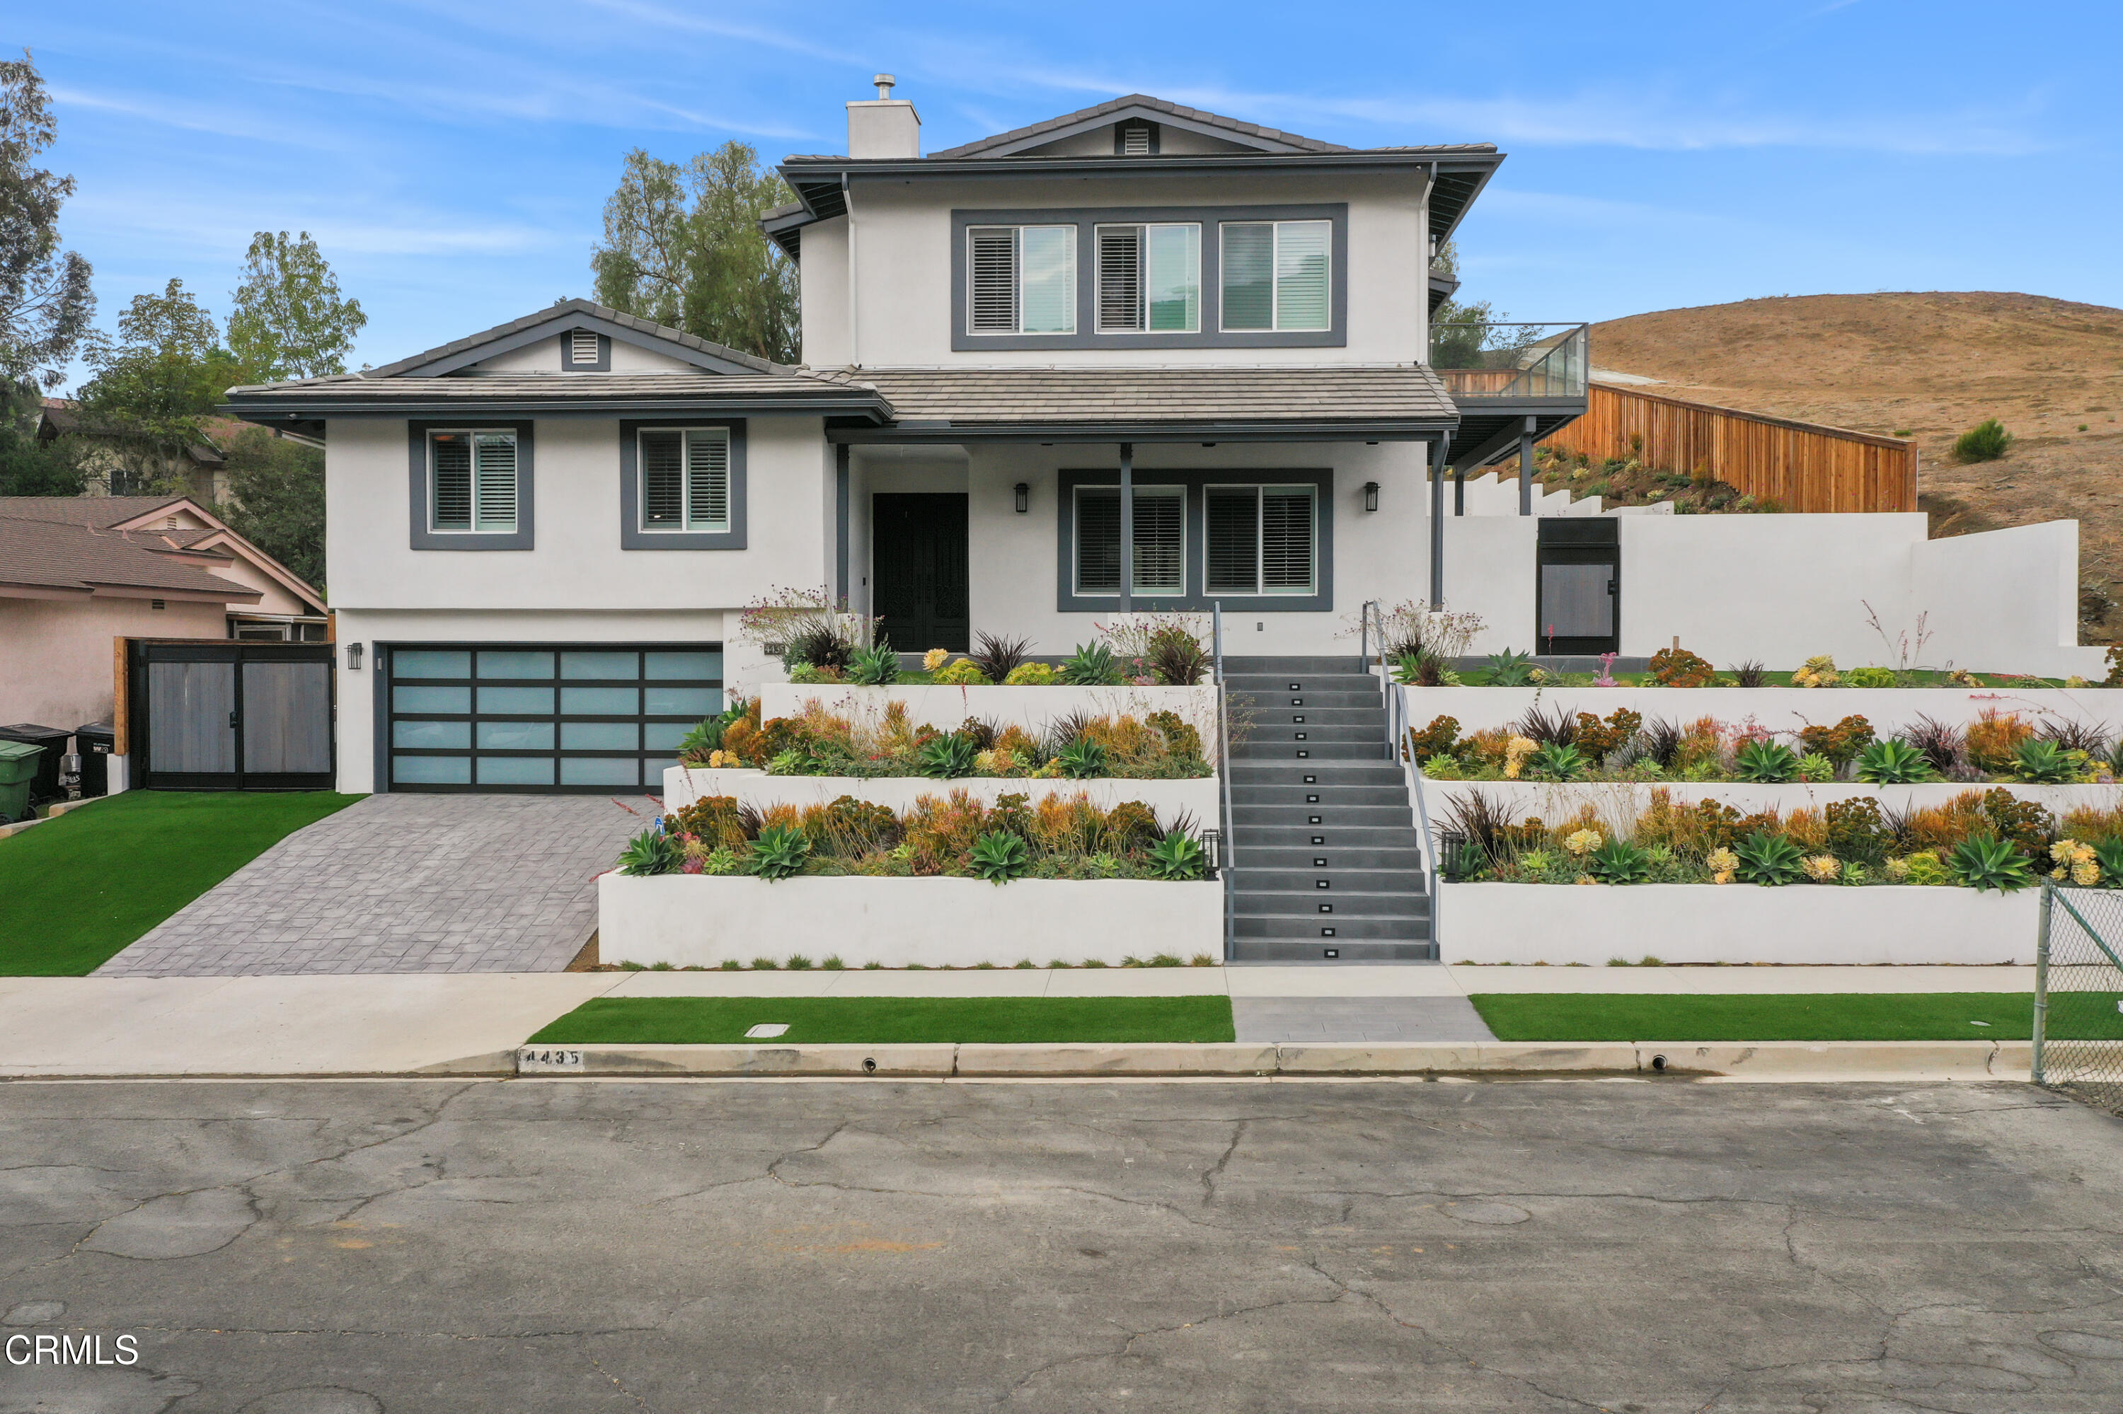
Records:
M853 775L766 775L764 771L709 771L707 766L669 766L664 771L664 807L684 809L701 796L737 796L745 805L830 805L841 796L856 796L875 805L890 805L896 811L913 807L917 796L947 796L953 790L972 794L983 805L994 805L998 796L1021 794L1032 803L1047 796L1089 796L1091 805L1110 811L1123 800L1140 800L1157 811L1161 822L1174 820L1180 811L1191 811L1195 826L1214 828L1221 817L1221 788L1216 777L1193 777L1185 781L1127 781L1098 777L1089 781L1030 781L1002 775L964 775L951 781L932 781L921 775L853 777Z

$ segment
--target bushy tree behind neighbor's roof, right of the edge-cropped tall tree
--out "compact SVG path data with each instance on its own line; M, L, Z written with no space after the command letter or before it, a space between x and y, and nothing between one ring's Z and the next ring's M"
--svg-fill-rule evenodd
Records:
M140 490L176 490L183 450L208 439L206 418L229 384L242 382L214 316L183 280L170 280L159 295L132 297L117 342L96 344L89 363L85 429L144 459Z

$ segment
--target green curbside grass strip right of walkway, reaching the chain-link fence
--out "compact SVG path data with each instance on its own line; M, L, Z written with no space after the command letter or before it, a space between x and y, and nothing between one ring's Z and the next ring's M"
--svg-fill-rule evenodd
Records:
M2034 1034L2034 996L2025 991L1488 991L1469 1000L1497 1040L2027 1040ZM2123 1040L2117 994L2053 996L2049 1034Z

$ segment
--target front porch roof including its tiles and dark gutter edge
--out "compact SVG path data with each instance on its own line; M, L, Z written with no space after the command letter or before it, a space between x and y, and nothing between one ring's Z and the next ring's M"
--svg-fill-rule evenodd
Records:
M1354 367L864 369L890 425L832 442L1427 442L1459 427L1437 376Z

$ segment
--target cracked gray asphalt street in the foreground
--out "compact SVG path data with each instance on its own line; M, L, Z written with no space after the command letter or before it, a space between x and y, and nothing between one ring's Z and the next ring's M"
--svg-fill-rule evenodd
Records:
M2025 1085L0 1085L0 1414L2123 1408Z

